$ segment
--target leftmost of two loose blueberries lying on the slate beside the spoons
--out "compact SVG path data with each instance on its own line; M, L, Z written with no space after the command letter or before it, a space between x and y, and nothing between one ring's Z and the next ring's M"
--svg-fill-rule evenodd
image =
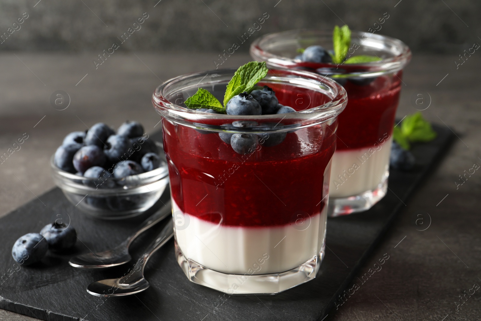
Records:
M47 253L49 244L38 233L28 233L15 241L12 247L12 257L15 262L30 265L39 262Z

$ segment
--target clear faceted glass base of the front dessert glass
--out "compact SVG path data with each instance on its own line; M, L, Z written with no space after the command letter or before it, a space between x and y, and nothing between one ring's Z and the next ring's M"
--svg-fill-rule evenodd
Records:
M229 295L267 294L274 295L316 277L324 258L325 243L321 251L297 268L272 274L226 274L208 269L186 258L175 241L177 263L191 282L201 284Z

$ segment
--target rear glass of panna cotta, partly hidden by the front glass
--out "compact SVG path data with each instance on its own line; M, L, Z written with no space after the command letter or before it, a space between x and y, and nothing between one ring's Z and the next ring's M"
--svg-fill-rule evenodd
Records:
M251 56L269 67L317 73L339 82L349 103L339 116L332 158L329 216L369 209L387 192L394 116L403 85L403 68L411 51L400 40L352 32L348 56L369 55L379 61L361 64L303 61L300 49L332 49L332 32L292 30L256 39ZM332 51L331 51L332 52Z

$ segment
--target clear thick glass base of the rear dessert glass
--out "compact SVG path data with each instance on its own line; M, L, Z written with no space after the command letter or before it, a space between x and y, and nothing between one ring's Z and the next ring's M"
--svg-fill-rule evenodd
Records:
M356 212L363 212L378 203L388 190L389 170L386 171L384 179L375 189L348 197L329 197L328 217L348 215Z

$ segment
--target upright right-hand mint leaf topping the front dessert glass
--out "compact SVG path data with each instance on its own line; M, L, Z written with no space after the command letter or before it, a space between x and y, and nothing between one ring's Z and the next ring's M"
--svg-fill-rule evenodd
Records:
M240 66L227 85L224 106L235 95L244 91L250 92L256 83L266 77L267 70L266 62L251 61Z

